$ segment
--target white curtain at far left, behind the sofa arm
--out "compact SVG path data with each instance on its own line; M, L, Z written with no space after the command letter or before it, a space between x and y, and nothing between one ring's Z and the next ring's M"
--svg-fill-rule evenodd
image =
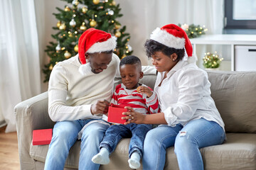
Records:
M0 21L0 114L13 132L14 106L41 93L34 1L1 0Z

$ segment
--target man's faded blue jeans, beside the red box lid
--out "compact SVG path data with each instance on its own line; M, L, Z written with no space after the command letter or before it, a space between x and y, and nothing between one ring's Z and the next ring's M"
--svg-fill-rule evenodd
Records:
M54 125L53 137L46 157L46 170L64 169L70 147L78 139L78 132L92 120L61 121ZM91 159L99 152L100 142L107 128L109 128L109 125L102 123L92 123L85 128L81 138L79 169L100 168L100 164L94 164Z

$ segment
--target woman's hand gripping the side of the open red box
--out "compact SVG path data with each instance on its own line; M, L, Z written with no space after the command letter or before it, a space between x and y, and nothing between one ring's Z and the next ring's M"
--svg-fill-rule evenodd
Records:
M125 106L124 108L129 109L129 112L122 113L123 115L127 115L122 117L123 120L128 120L124 125L127 125L129 123L137 123L142 124L144 123L144 118L146 115L143 115L142 113L135 112L134 109L130 106Z

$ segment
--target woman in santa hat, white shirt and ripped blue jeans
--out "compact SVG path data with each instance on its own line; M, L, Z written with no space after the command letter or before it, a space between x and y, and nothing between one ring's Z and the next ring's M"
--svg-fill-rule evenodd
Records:
M144 46L158 71L154 92L161 113L142 115L131 107L126 107L131 112L124 113L124 119L130 119L127 123L159 124L146 135L143 169L164 169L166 148L173 146L179 169L203 169L199 149L225 140L208 75L196 66L185 31L174 24L156 28ZM185 50L187 59L183 58Z

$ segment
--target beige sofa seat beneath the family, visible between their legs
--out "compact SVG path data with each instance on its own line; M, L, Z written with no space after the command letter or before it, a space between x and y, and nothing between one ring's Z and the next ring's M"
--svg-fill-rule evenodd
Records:
M245 167L256 168L256 134L228 133L228 140L223 145L205 147L201 149L205 169L233 170L246 169ZM100 166L100 169L129 169L127 160L128 145L130 139L122 139L117 148L110 156L110 164ZM31 144L31 157L39 162L45 162L48 145L33 146ZM66 167L78 168L80 152L80 141L70 149L70 154L65 163ZM142 169L142 166L141 166ZM170 147L166 152L166 164L164 169L178 170L178 162L174 147ZM255 170L248 168L250 170Z

